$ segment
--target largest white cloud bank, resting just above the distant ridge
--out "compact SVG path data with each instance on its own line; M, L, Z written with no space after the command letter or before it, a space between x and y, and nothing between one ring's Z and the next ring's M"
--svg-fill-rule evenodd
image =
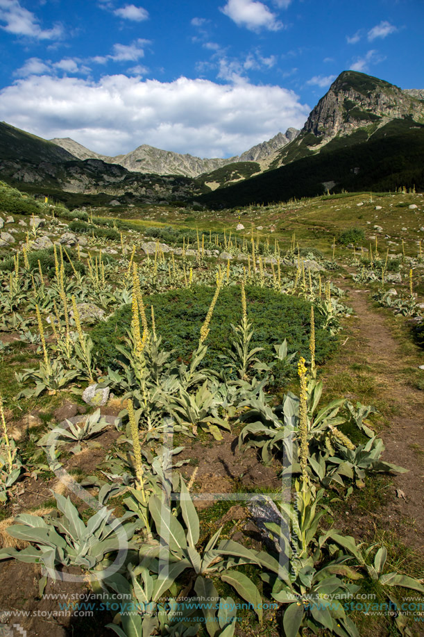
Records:
M71 137L108 155L151 144L202 157L231 156L289 126L300 128L309 110L280 86L185 77L162 83L115 75L95 83L31 76L0 92L6 122L46 139Z

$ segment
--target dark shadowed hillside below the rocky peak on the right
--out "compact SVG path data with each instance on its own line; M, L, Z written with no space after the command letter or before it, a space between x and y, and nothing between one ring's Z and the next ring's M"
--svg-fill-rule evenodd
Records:
M215 190L199 201L212 208L228 208L314 197L325 192L323 183L329 181L336 183L332 192L388 191L403 185L424 190L423 124L394 119L367 138L364 131L334 138L319 155Z

